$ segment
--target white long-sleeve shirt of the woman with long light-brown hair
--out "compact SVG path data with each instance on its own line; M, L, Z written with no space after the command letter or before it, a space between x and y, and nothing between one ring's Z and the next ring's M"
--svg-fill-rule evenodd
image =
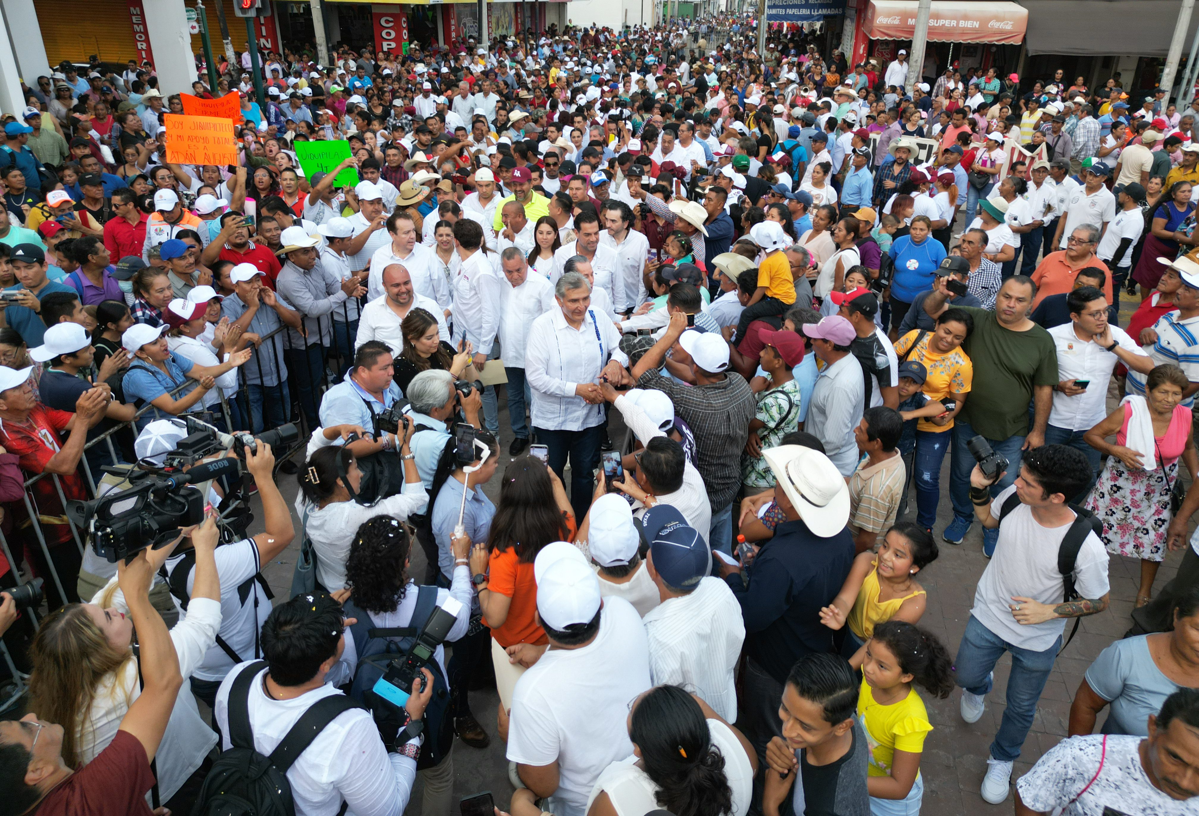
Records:
M112 606L128 613L123 593L118 588L113 599L104 603L104 596L116 585L114 575L91 599L97 606ZM193 598L187 606L187 617L170 630L170 642L179 657L179 670L187 679L200 665L205 653L216 643L221 628L221 602L211 598ZM121 718L141 694L138 682L137 658L126 660L114 673L107 675L96 689L88 719L76 741L79 761L91 762L116 736ZM156 755L158 769L158 793L165 802L173 797L187 778L200 767L204 757L217 743L217 735L200 717L195 696L186 685L175 697L175 706L167 720L167 731Z

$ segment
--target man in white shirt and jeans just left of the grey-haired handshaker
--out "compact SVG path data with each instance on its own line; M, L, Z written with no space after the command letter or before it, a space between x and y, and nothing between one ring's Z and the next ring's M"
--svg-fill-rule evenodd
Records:
M524 212L522 211L522 216ZM500 288L500 347L504 349L504 371L508 377L508 422L512 423L513 457L529 445L529 425L525 424L525 406L531 401L529 381L525 377L525 340L529 326L541 315L556 308L554 288L548 278L529 274L525 254L518 247L507 247L500 253L500 266L507 285Z

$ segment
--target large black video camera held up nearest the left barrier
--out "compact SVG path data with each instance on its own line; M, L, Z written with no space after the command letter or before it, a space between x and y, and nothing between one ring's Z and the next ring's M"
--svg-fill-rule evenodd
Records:
M146 546L175 540L180 528L204 521L207 497L187 490L222 476L236 476L236 459L215 459L182 471L128 471L133 484L90 502L68 501L67 516L91 536L96 555L109 562L128 560Z

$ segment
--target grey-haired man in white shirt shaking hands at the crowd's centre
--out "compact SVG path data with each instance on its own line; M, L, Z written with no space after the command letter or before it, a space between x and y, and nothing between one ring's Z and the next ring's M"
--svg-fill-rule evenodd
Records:
M549 466L561 477L571 459L574 518L591 504L591 471L600 464L604 433L601 377L622 382L628 357L620 332L591 308L591 285L564 272L554 288L556 308L532 321L525 345L525 374L532 397L534 433L549 448Z

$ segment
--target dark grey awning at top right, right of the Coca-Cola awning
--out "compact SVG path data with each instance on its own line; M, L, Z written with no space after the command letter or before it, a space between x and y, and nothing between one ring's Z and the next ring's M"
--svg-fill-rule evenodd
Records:
M1020 5L1032 12L1030 55L1165 56L1182 4L1180 0L1020 0ZM1192 14L1187 44L1197 25L1199 14Z

